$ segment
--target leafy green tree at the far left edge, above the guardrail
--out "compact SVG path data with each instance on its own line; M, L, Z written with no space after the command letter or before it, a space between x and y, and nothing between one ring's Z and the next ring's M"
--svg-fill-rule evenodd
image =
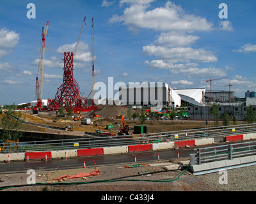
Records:
M13 106L10 106L13 107ZM9 108L10 108L9 107ZM22 136L22 114L12 109L7 110L1 119L1 140L19 140Z

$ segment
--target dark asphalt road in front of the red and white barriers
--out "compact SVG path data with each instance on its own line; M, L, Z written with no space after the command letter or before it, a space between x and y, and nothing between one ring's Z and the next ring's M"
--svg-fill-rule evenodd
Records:
M11 161L10 163L0 163L0 173L22 173L29 169L36 171L54 171L56 169L67 170L71 168L83 168L84 161L86 167L92 167L94 165L98 167L113 164L120 164L120 166L131 165L135 164L135 156L137 164L157 162L158 154L160 161L168 161L170 159L177 159L177 151L179 151L180 159L182 157L189 157L189 154L195 153L193 148L184 148L180 150L134 152L118 155L68 157L67 159L47 159L47 161Z

